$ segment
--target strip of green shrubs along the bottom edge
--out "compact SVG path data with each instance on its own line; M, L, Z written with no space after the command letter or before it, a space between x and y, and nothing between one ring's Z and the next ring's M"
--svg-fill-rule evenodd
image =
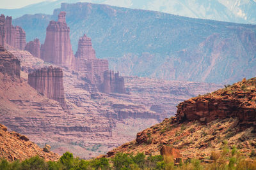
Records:
M212 152L211 157L208 157L210 163L205 160L184 160L175 162L170 156L146 156L144 153L137 153L136 155L127 153L116 153L115 157L81 160L74 158L72 153L64 153L58 162L45 162L44 159L36 156L26 159L22 162L16 160L14 162L8 162L5 159L0 160L0 169L26 169L26 170L39 170L39 169L52 169L52 170L64 170L64 169L256 169L255 150L252 150L250 157L252 159L246 159L243 157L239 150L235 146L232 150L228 150L227 143L223 141L222 150L219 152Z

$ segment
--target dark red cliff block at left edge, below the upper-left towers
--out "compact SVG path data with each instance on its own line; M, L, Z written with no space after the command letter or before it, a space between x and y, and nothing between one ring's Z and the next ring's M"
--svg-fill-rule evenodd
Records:
M0 72L20 76L20 61L3 46L0 46Z

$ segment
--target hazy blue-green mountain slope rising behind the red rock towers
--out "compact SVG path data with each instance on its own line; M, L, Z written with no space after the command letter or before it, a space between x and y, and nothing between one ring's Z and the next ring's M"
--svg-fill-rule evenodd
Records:
M209 83L255 76L256 25L90 3L63 4L52 17L25 15L15 24L27 41L37 35L44 43L46 23L60 11L67 12L73 51L86 33L97 57L122 74Z

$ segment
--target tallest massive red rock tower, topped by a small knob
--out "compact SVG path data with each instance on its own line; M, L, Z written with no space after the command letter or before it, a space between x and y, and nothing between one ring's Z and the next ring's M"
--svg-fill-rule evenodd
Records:
M51 21L46 29L46 38L40 48L40 57L46 62L58 66L72 66L74 54L72 52L69 32L65 20L66 13L61 11L58 21Z

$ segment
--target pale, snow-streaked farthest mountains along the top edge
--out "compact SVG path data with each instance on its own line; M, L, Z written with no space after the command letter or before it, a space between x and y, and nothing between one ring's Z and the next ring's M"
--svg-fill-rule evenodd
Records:
M256 24L255 0L58 0L44 1L31 4L19 9L0 9L1 13L12 15L14 18L25 14L45 13L52 14L55 8L60 8L61 3L103 3L132 9L161 11L184 17L237 22L243 24Z

